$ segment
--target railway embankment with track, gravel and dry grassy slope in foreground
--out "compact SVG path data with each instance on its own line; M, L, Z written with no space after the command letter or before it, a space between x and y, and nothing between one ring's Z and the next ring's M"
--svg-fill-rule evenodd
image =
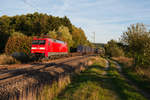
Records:
M49 92L48 100L51 100L70 83L73 73L92 64L90 59L88 56L70 57L1 72L0 100L45 100L45 92Z

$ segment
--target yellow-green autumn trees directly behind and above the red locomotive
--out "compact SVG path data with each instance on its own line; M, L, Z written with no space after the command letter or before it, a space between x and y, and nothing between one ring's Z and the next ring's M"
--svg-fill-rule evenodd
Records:
M81 28L72 26L72 32L68 27L60 26L58 30L49 31L47 36L53 39L62 40L68 43L69 47L76 48L78 45L91 46L91 43L87 40L84 31Z

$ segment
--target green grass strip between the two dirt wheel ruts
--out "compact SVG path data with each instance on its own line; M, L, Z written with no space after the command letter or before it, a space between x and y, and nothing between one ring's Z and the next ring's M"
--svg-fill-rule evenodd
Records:
M110 66L107 76L109 77L109 82L113 84L114 91L118 93L121 100L147 100L136 91L135 87L128 84L126 79L118 73L116 68Z

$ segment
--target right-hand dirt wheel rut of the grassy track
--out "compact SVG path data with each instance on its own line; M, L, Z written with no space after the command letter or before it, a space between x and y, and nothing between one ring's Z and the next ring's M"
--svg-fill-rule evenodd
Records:
M148 93L144 92L143 90L139 89L131 80L129 80L129 79L122 73L122 68L121 68L121 66L120 66L117 62L113 61L113 63L116 64L116 67L118 68L118 71L119 71L120 75L121 75L123 78L126 79L126 81L128 82L128 84L132 85L132 87L134 87L137 92L141 93L144 97L146 97L148 100L150 100L150 95L149 95Z

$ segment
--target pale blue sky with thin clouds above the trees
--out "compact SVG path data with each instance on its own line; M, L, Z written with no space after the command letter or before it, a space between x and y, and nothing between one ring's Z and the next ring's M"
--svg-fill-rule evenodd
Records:
M150 24L150 0L1 0L0 16L27 13L67 16L92 41L117 40L130 24Z

